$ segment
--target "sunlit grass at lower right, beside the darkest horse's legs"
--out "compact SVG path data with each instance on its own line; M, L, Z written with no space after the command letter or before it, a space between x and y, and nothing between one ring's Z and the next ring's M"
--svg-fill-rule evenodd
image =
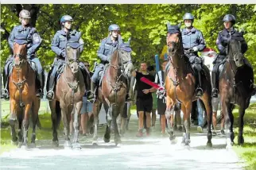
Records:
M237 136L239 133L239 110L234 111L235 117L235 143L237 143ZM235 153L240 158L246 160L246 170L256 169L256 103L251 105L244 116L245 126L243 129L245 144L241 147L235 145Z

